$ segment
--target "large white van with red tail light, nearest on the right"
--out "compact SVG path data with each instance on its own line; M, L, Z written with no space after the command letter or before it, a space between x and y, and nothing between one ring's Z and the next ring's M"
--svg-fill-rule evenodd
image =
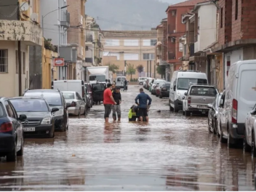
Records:
M244 138L247 113L256 103L256 60L233 63L221 97L220 136L231 147Z

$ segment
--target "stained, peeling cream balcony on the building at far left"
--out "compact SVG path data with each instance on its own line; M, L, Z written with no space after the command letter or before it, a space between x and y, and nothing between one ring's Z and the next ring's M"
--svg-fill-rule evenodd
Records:
M42 30L29 21L0 20L0 41L23 41L27 45L42 46Z

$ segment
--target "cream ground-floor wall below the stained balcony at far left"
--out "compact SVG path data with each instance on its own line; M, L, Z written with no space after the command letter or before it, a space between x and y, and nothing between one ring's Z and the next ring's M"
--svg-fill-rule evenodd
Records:
M19 96L19 77L16 73L16 57L17 42L0 41L0 49L8 49L8 73L0 73L0 90L2 97ZM21 43L21 52L25 52L25 74L22 68L22 92L29 86L29 51L28 46ZM28 74L28 76L27 76ZM26 79L27 78L27 79Z

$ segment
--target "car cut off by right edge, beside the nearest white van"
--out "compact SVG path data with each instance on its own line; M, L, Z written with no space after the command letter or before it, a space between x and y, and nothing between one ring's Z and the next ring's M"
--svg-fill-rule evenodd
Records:
M256 156L256 105L247 113L247 118L244 124L244 141L243 150L251 151L252 157Z

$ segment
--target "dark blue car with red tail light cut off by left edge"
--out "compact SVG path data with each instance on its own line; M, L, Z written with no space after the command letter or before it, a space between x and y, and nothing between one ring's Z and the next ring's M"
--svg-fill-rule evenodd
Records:
M7 161L16 161L17 156L23 156L24 134L20 121L25 119L27 116L18 116L7 98L0 97L0 156L7 156Z

